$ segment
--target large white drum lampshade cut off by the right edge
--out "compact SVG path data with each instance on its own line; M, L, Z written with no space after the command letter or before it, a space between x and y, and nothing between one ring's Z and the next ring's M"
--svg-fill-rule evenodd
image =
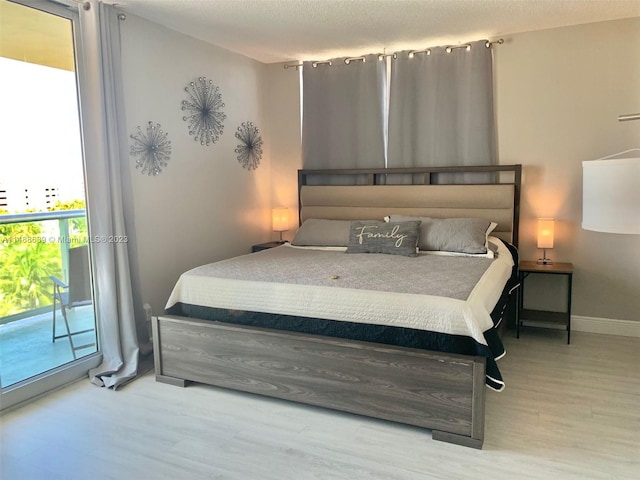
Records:
M582 228L640 234L640 158L582 162Z

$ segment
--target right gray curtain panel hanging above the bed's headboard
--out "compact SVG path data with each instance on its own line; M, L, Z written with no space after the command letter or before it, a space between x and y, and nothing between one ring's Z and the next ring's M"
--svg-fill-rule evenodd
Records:
M390 168L497 163L491 48L484 40L469 45L392 60ZM439 183L464 181L446 177Z

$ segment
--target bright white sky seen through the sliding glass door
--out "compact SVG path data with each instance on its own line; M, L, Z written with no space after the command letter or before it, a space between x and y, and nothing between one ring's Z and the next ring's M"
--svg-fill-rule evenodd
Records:
M0 57L0 189L11 213L42 208L44 188L83 199L75 72ZM43 208L44 209L44 208Z

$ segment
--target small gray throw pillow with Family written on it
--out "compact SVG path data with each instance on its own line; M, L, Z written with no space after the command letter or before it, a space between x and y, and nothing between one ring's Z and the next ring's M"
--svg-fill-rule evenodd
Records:
M388 253L415 257L420 221L351 222L347 253Z

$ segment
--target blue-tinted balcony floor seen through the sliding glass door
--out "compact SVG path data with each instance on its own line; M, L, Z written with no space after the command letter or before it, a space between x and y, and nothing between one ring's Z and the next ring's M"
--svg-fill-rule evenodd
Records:
M94 328L93 305L75 307L68 312L72 331ZM0 380L3 387L73 361L67 338L51 341L53 311L0 325ZM56 312L56 335L65 331L64 320ZM95 330L73 338L75 345L95 343ZM76 351L78 358L96 351L91 346Z

